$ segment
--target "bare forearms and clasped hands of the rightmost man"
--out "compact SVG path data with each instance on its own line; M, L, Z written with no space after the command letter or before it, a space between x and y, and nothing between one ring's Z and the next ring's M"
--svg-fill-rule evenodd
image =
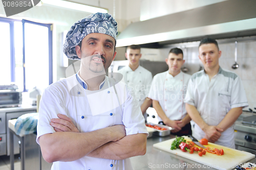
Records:
M219 125L209 126L204 122L195 106L186 103L186 110L195 123L205 132L205 138L210 142L216 142L221 137L221 132L232 126L242 113L242 107L232 108Z

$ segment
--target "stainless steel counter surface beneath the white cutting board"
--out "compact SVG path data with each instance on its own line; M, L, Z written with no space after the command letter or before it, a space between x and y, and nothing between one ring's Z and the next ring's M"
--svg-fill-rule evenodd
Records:
M201 163L153 148L154 143L172 139L174 137L174 135L169 135L166 137L158 137L153 135L153 137L147 138L146 154L131 158L134 169L215 169L207 166L203 167L203 164ZM248 162L256 164L256 158L251 159Z

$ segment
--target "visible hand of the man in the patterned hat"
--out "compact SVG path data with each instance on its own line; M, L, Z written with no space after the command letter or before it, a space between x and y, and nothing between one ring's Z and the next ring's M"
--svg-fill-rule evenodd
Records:
M64 114L58 114L59 118L52 118L50 125L56 132L79 132L71 118Z

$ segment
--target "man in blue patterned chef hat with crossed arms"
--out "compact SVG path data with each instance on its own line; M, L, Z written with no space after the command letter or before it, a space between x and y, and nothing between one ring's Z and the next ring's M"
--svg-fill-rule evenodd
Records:
M133 169L130 157L144 155L148 135L133 92L121 74L105 71L116 56L117 23L96 13L77 21L63 44L80 70L45 89L36 141L52 170Z

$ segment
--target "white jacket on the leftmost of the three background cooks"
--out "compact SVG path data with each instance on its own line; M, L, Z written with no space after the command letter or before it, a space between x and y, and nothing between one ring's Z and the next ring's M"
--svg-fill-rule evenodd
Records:
M152 73L140 65L134 71L130 66L125 66L118 72L123 75L124 82L133 89L135 98L141 106L150 91Z

